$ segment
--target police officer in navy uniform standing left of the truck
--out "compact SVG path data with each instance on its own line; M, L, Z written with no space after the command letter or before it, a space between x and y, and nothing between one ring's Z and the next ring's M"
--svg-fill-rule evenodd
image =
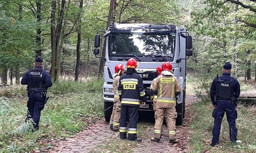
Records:
M35 67L26 72L21 79L22 85L28 85L28 114L26 122L33 120L34 129L39 129L41 110L46 103L47 88L53 85L49 74L43 70L43 59L37 57Z

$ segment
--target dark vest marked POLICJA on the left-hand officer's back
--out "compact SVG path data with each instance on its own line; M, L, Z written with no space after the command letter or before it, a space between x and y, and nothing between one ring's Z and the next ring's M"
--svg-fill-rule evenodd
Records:
M42 72L44 70L40 68L34 68L28 71L28 90L32 89L45 89L45 83L43 80Z

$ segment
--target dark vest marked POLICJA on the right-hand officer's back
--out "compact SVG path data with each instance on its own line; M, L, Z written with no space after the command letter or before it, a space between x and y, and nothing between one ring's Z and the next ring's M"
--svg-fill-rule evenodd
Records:
M229 99L233 97L232 86L234 81L231 78L228 81L218 82L218 99Z

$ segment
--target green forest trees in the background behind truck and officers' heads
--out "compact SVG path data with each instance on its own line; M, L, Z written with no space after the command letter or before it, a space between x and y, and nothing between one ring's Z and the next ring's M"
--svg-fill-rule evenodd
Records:
M93 56L94 35L113 23L186 27L194 50L189 70L214 74L232 61L236 77L256 79L254 0L1 0L0 11L4 84L19 84L36 55L45 59L54 81L63 74L75 80L102 76L103 61Z

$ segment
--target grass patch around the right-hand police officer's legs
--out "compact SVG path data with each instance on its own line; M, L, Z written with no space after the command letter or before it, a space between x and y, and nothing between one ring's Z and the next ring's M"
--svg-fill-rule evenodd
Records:
M190 125L193 131L190 138L191 153L255 153L256 152L256 107L246 108L238 106L238 140L241 143L233 145L229 141L229 127L224 117L219 137L219 147L211 147L211 130L214 119L211 117L211 104L196 102L191 106L190 112L196 112Z

